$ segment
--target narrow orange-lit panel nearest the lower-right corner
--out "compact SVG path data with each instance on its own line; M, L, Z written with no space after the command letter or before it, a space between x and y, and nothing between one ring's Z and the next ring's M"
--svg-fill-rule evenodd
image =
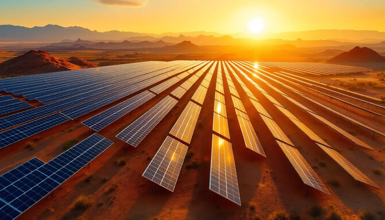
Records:
M373 186L374 188L380 188L372 180L370 180L365 174L357 169L352 163L344 158L336 150L323 146L322 144L316 143L323 151L325 151L334 161L336 161L344 170L346 170L353 178L357 181Z

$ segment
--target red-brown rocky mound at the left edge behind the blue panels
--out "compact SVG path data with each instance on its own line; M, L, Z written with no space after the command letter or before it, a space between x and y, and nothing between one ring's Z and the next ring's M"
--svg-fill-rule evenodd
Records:
M23 55L0 63L0 76L20 76L81 68L79 65L55 58L46 51L30 50Z

